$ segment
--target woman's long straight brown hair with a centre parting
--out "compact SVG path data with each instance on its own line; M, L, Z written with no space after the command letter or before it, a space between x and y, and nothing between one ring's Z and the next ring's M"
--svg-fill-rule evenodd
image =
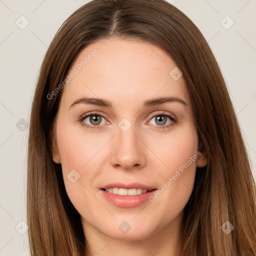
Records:
M31 255L80 256L88 249L79 213L64 188L61 165L52 160L49 134L63 89L51 99L47 95L64 80L81 49L112 35L165 50L181 69L190 94L208 164L196 169L184 207L179 255L255 256L255 180L225 82L199 29L164 0L90 1L71 14L53 38L31 109L27 173ZM225 221L234 226L229 234L221 230Z

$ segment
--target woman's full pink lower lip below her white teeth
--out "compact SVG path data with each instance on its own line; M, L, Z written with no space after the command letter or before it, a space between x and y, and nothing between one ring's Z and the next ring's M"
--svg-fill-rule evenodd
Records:
M108 193L102 189L100 189L100 192L102 195L112 204L118 207L123 207L123 208L130 208L130 207L135 207L146 200L149 199L151 195L154 194L156 189L151 190L146 193L142 194L136 194L136 195L119 195L119 194L113 194L113 193Z

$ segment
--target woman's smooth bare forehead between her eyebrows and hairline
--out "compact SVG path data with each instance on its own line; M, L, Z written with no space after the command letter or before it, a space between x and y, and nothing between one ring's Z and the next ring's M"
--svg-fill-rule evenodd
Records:
M96 96L111 100L113 106L127 106L154 96L176 96L189 104L183 77L176 79L180 73L175 62L148 42L116 37L96 41L78 53L70 73L75 75L64 88L65 103Z

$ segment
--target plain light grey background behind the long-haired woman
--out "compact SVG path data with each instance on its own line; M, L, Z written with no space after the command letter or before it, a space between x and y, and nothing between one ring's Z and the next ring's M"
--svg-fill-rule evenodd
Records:
M24 120L29 120L47 46L65 18L86 2L0 0L0 256L29 254L26 224L20 222L26 222L28 128ZM169 2L188 15L209 42L230 91L255 172L256 0ZM24 29L15 23L25 24L21 15L29 21ZM232 20L234 24L226 29Z

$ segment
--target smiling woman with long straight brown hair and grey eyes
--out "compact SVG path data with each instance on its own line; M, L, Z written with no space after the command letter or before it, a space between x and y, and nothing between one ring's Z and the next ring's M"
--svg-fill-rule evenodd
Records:
M255 181L223 77L163 0L60 27L31 110L32 255L256 255Z

